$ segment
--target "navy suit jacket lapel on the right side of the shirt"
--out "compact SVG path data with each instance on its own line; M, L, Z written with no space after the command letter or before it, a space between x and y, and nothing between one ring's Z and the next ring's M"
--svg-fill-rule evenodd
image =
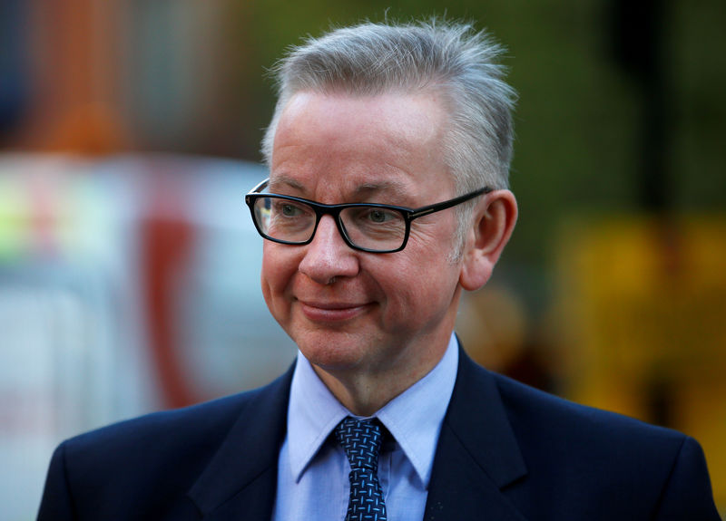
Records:
M424 518L524 521L503 488L525 474L494 379L460 350Z

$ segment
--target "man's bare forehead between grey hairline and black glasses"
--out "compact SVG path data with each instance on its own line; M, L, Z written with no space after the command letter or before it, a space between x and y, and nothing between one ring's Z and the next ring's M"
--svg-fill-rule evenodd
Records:
M298 93L275 133L270 186L410 192L450 183L441 153L445 121L431 93Z

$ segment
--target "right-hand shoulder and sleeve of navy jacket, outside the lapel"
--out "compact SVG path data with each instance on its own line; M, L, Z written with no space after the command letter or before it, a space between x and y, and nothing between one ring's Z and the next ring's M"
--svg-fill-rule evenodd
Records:
M530 478L562 511L718 519L695 439L494 378Z

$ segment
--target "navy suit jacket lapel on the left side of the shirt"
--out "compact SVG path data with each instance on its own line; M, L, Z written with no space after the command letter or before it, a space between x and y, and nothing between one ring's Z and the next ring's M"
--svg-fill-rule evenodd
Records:
M268 520L277 490L280 445L287 428L292 368L251 391L240 417L189 497L205 520Z

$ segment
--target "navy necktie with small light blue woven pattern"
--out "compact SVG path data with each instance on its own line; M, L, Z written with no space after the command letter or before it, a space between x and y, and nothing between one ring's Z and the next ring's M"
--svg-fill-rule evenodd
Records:
M346 417L335 428L350 463L350 497L346 521L386 521L386 505L378 482L381 429L378 420Z

